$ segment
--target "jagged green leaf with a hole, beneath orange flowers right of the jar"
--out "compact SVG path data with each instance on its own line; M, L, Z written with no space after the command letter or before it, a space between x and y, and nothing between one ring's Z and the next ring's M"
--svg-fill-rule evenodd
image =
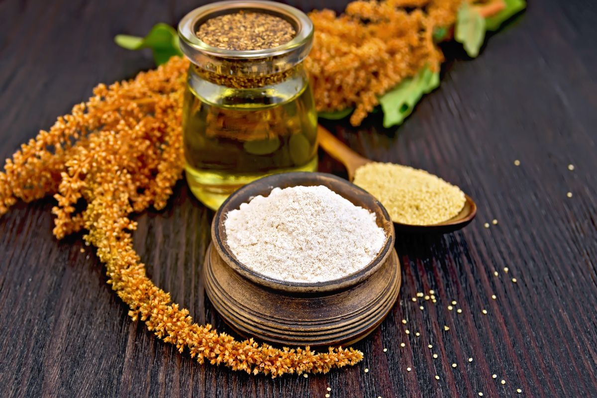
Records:
M439 72L433 72L429 66L425 66L413 78L404 79L395 88L381 95L379 103L383 110L383 127L402 124L421 97L438 86Z

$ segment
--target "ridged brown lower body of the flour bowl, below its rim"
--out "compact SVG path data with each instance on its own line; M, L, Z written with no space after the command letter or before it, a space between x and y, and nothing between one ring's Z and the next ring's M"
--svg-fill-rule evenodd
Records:
M213 242L203 267L205 292L240 335L279 345L347 345L370 334L392 309L401 285L395 249L367 279L328 292L285 292L251 282L222 260Z

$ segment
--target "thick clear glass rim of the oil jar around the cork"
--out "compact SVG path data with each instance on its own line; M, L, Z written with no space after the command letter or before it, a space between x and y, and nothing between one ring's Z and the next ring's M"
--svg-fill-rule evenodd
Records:
M227 50L199 39L199 26L205 21L238 13L265 13L283 18L296 34L277 47L263 50ZM304 60L313 42L313 23L302 11L273 1L220 1L195 8L179 23L180 48L192 63L219 75L271 75L284 72Z

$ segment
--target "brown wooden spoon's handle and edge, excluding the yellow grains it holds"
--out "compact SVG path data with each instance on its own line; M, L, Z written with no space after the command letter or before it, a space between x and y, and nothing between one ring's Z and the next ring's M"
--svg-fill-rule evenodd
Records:
M356 169L359 167L366 165L367 163L373 162L371 159L364 158L363 156L359 155L345 144L343 144L338 138L334 137L331 132L327 131L321 125L317 126L317 137L319 141L319 145L322 147L325 152L327 152L332 158L336 159L338 162L342 163L346 170L348 171L348 179L349 181L353 181L355 179L355 172ZM463 228L470 221L475 218L477 213L477 206L473 199L470 198L469 195L464 194L466 198L466 202L464 202L464 207L454 217L450 218L450 220L443 221L442 223L438 224L430 224L430 225L412 225L412 224L402 224L397 223L394 221L394 226L396 230L402 232L416 232L416 233L449 233L454 232L458 229Z

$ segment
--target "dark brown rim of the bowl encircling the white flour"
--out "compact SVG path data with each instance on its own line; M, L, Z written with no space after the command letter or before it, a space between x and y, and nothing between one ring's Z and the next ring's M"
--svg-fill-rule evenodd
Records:
M367 209L368 211L374 212L377 216L376 218L378 218L378 216L381 214L383 218L379 220L378 226L381 224L381 228L383 228L384 234L386 235L386 241L384 242L384 245L382 246L376 257L369 264L367 264L367 266L363 267L358 271L355 271L338 279L326 280L322 282L291 282L288 280L275 279L273 277L260 274L245 266L245 264L241 263L241 261L239 261L235 257L235 255L232 253L232 250L225 242L226 229L224 227L224 216L227 214L227 212L232 211L233 209L238 209L241 203L247 203L257 195L269 195L269 192L271 192L271 190L284 185L282 183L290 183L290 185L284 185L284 187L301 186L305 184L307 184L306 186L322 185L321 181L319 181L320 183L317 183L318 178L324 178L331 184L332 187L345 186L347 188L356 190L356 192L365 196L365 198L368 198L370 200L370 203L367 203L365 201L358 201L359 203L356 203L357 201L355 200L355 198L347 198L346 194L343 195L343 192L338 192L338 190L334 190L332 189L332 187L328 187L330 190L336 192L344 199L349 200L354 205L361 206L362 208ZM258 192L263 191L263 186L266 186L267 189L269 189L269 192ZM238 203L238 205L236 205L234 208L229 208L230 203L232 202ZM259 178L258 180L255 180L245 185L244 187L241 187L241 189L236 190L236 192L232 193L232 195L230 195L222 203L220 208L217 210L216 215L214 215L213 221L211 223L211 237L220 257L224 260L226 264L228 264L233 270L236 271L236 273L240 274L241 276L259 285L266 286L267 288L273 288L285 292L307 293L336 291L339 289L349 288L350 286L354 286L357 283L360 283L363 280L370 277L373 273L380 269L380 267L389 258L394 247L396 233L394 230L392 219L390 218L383 205L381 205L379 200L377 200L376 198L374 198L373 195L371 195L364 189L356 186L355 184L352 184L349 181L344 180L344 178L340 178L336 175L328 173L285 172Z

